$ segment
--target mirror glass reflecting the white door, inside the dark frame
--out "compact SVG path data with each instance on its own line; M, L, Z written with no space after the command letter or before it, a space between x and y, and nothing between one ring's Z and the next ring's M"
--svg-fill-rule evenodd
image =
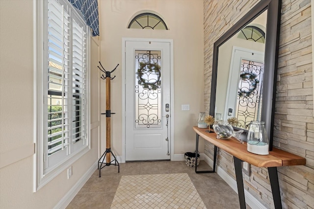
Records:
M248 129L261 119L267 10L219 46L215 114Z

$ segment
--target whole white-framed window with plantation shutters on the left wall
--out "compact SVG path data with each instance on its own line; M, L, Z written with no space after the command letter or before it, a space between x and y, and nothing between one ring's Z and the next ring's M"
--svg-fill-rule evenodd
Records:
M90 37L86 23L68 0L48 0L37 6L44 17L39 25L42 31L37 29L41 37L37 45L42 45L37 47L37 58L42 55L42 62L37 62L36 74L36 189L89 149Z

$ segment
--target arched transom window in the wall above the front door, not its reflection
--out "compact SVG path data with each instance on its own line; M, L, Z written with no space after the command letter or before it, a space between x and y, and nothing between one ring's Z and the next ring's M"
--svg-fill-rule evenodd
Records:
M136 15L131 20L128 28L168 30L166 23L158 15L153 13L142 13Z

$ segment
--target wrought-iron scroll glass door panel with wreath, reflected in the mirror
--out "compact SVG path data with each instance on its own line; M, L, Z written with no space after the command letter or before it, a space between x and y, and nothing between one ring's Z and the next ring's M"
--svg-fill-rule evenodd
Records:
M235 108L237 127L247 129L251 120L260 118L263 70L263 63L241 60Z

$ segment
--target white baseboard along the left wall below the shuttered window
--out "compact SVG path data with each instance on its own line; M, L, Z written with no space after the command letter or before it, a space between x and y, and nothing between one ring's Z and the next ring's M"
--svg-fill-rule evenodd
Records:
M58 202L53 209L65 209L70 202L73 200L75 195L77 195L78 191L84 186L87 180L91 177L91 175L95 172L97 168L97 162L93 163L92 166L87 170L87 172L78 180L78 182L66 193L66 195Z

